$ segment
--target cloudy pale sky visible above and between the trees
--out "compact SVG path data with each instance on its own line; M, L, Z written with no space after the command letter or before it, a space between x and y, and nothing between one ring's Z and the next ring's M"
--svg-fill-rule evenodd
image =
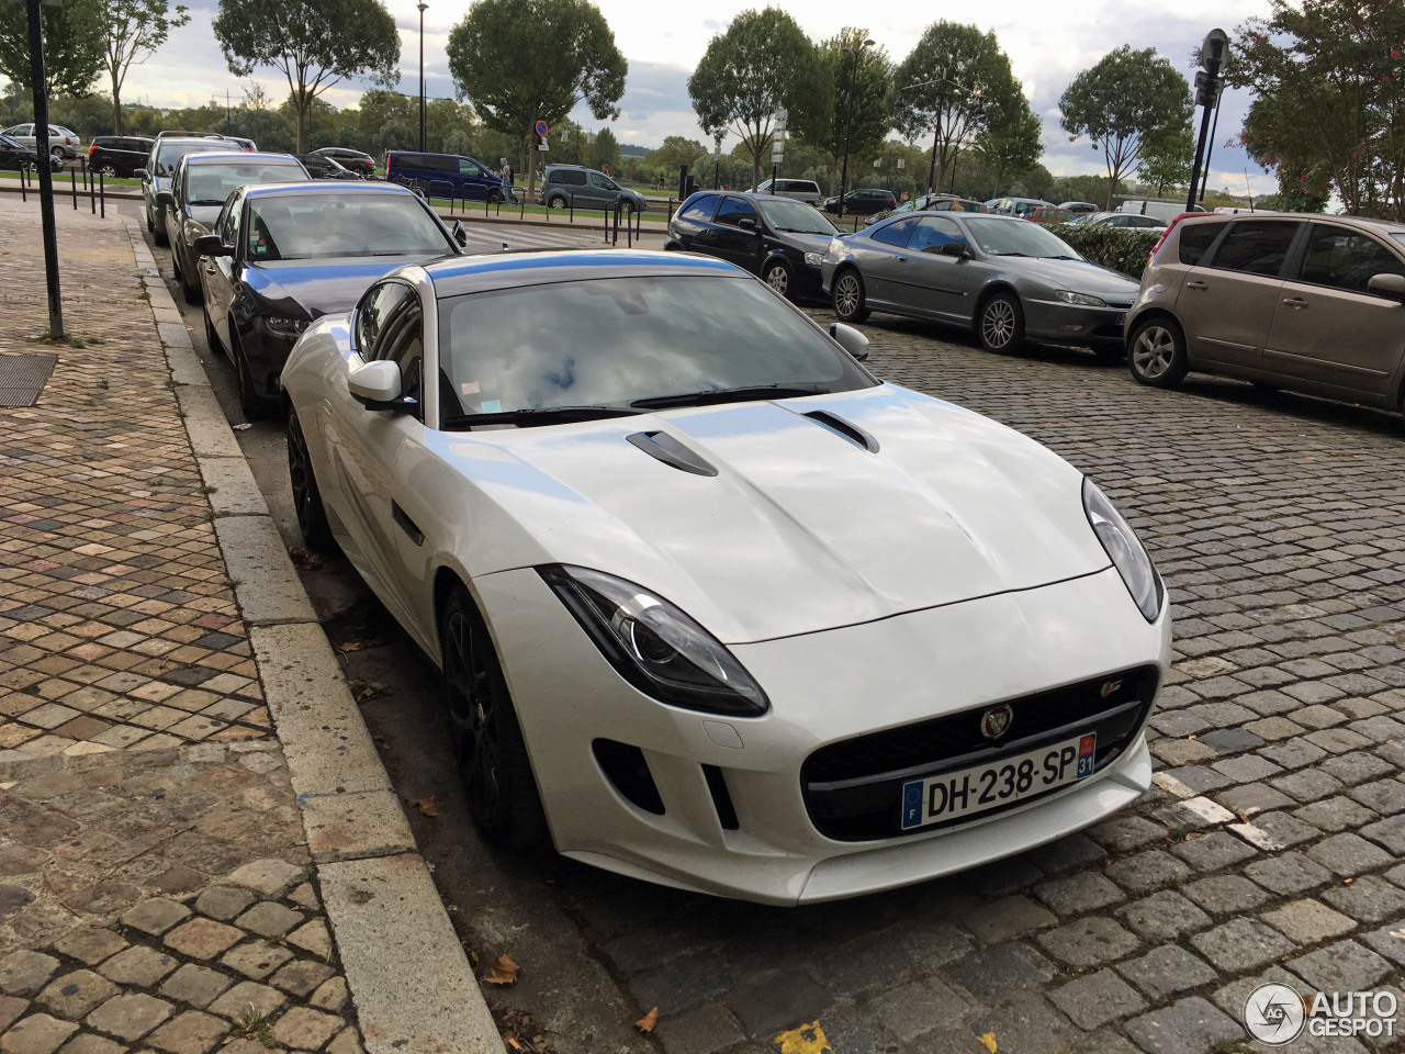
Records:
M124 87L124 101L155 105L198 105L211 98L223 101L228 91L237 104L247 82L229 73L219 45L209 31L215 0L185 0L191 21L171 34L166 48L145 66L133 67ZM621 100L622 117L614 125L624 143L656 146L666 135L705 141L688 101L687 79L714 34L725 31L732 17L756 0L711 0L707 4L670 4L643 0L596 0L615 34L615 42L629 60L629 77ZM419 84L419 11L414 0L386 0L400 28L400 90L414 94ZM785 3L811 39L832 37L854 21L851 0L805 0ZM1245 18L1266 14L1267 0L1182 0L1170 6L1159 0L1082 0L1057 4L1041 0L992 0L968 4L961 13L932 17L969 21L993 30L1000 46L1024 84L1034 112L1044 121L1044 163L1059 176L1103 171L1102 152L1089 143L1071 143L1058 126L1058 98L1079 70L1123 44L1155 48L1187 79L1193 76L1191 53L1205 32L1221 27L1234 34ZM430 97L452 96L444 45L454 25L468 11L466 0L434 1L424 13L424 74ZM927 22L915 17L908 3L878 4L873 8L868 35L901 62L916 45ZM541 56L549 62L549 55ZM271 98L287 96L287 83L275 70L256 73ZM332 89L325 98L333 105L351 105L364 86L348 83ZM1210 186L1242 194L1248 184L1255 194L1276 190L1272 176L1249 162L1239 149L1225 143L1239 131L1248 96L1228 91L1220 114L1220 131L1211 159ZM1197 114L1198 117L1198 114ZM596 126L582 108L573 114L584 126Z

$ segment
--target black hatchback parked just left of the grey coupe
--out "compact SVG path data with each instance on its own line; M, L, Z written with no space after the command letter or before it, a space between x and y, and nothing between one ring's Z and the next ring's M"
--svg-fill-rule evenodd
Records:
M735 263L783 297L822 298L819 261L839 230L794 198L698 191L669 222L665 249Z

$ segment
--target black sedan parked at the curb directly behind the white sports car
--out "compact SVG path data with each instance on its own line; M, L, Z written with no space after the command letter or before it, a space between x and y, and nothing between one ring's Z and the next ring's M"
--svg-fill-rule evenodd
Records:
M270 183L229 195L194 245L205 336L239 377L243 412L278 406L278 374L308 325L350 311L386 271L461 252L412 191L391 183Z

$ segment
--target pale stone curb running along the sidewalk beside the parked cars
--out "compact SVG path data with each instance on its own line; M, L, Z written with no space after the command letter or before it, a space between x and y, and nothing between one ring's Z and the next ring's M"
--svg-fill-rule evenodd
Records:
M126 221L368 1054L499 1054L497 1027L145 238Z

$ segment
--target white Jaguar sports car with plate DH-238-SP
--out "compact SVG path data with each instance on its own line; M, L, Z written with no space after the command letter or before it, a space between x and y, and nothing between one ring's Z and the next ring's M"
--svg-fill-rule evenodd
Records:
M865 346L728 263L608 250L403 267L298 341L299 524L443 670L488 835L798 904L1146 788L1141 542Z

